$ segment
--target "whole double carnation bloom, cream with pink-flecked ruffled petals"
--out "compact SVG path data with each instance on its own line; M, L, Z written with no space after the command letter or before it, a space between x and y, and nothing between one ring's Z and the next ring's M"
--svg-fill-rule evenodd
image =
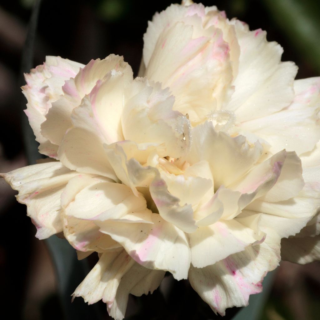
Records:
M223 315L281 257L318 258L320 79L294 81L281 54L216 7L171 5L149 22L138 78L116 55L47 57L26 75L51 159L3 176L39 239L98 252L74 296L122 319L129 293L169 271Z

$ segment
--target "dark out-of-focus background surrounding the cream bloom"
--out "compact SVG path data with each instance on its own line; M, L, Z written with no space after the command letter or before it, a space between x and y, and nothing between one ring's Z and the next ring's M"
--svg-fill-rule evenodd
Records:
M32 4L32 0L0 2L0 172L27 165L21 130L26 101L20 86L24 84L21 58ZM170 4L165 0L43 0L32 66L42 64L46 55L87 64L91 59L115 53L123 55L137 75L147 21ZM297 78L320 75L318 1L217 0L203 1L203 4L216 5L226 11L228 18L238 17L251 29L266 30L269 41L277 41L284 47L282 60L292 60L298 65ZM16 203L13 195L1 180L2 313L8 311L11 319L64 319L46 245L34 238L35 227L26 216L26 208ZM220 318L202 303L187 281L172 284L170 277L168 279L172 285L170 294L164 296L156 291L152 296L131 298L126 319ZM261 319L316 319L320 313L319 284L318 263L302 267L282 263ZM102 303L86 308L96 308L97 319L99 314L102 319L108 318ZM225 319L235 312L235 309L227 312Z

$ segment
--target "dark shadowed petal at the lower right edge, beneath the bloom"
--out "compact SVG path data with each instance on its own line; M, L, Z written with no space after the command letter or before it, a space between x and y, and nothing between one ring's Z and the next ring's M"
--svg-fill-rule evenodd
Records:
M281 240L282 260L306 264L320 260L320 236L290 237Z

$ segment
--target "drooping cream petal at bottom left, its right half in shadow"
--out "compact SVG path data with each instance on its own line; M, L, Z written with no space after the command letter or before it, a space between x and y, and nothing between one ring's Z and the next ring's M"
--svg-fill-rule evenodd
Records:
M153 292L161 283L164 271L140 266L123 250L105 252L98 263L76 288L73 297L83 297L89 304L102 299L110 316L122 320L128 296Z

